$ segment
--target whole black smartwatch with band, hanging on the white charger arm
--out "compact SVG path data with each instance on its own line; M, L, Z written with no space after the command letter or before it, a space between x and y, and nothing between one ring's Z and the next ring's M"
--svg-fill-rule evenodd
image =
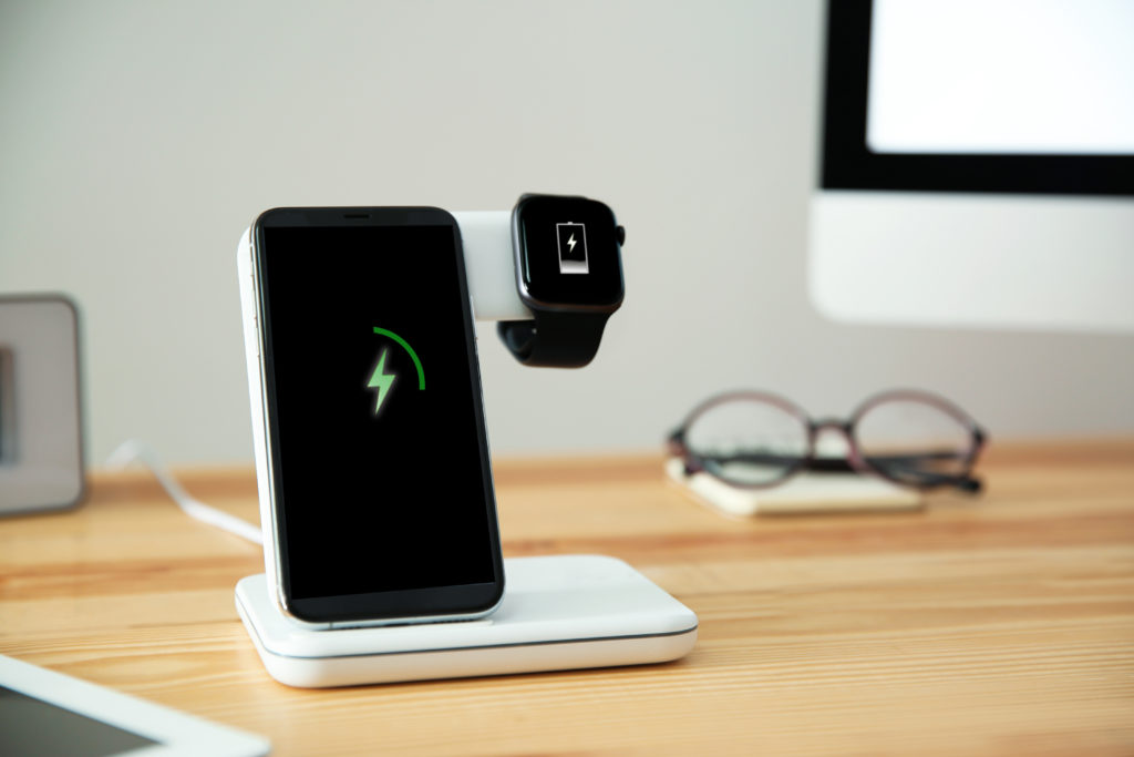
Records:
M519 298L531 320L497 331L525 365L582 368L599 351L602 329L623 304L626 230L596 200L525 194L511 211Z

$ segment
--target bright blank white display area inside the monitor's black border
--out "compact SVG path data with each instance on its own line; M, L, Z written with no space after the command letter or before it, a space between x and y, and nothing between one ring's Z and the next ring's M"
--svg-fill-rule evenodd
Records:
M1134 154L1134 2L875 0L866 144Z

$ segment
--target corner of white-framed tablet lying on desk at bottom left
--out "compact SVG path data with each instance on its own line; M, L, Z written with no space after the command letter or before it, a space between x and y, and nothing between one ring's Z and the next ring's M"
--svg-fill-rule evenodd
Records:
M0 655L0 754L257 757L251 733Z

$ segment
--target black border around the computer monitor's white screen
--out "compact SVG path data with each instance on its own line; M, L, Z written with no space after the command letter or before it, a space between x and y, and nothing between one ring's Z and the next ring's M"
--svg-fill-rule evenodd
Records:
M866 144L872 0L828 0L820 186L1134 195L1134 155L878 153Z

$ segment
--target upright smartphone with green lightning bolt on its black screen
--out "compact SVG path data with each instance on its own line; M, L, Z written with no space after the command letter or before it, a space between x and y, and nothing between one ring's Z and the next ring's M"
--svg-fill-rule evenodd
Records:
M278 606L324 629L492 612L503 564L457 221L279 208L239 262Z

